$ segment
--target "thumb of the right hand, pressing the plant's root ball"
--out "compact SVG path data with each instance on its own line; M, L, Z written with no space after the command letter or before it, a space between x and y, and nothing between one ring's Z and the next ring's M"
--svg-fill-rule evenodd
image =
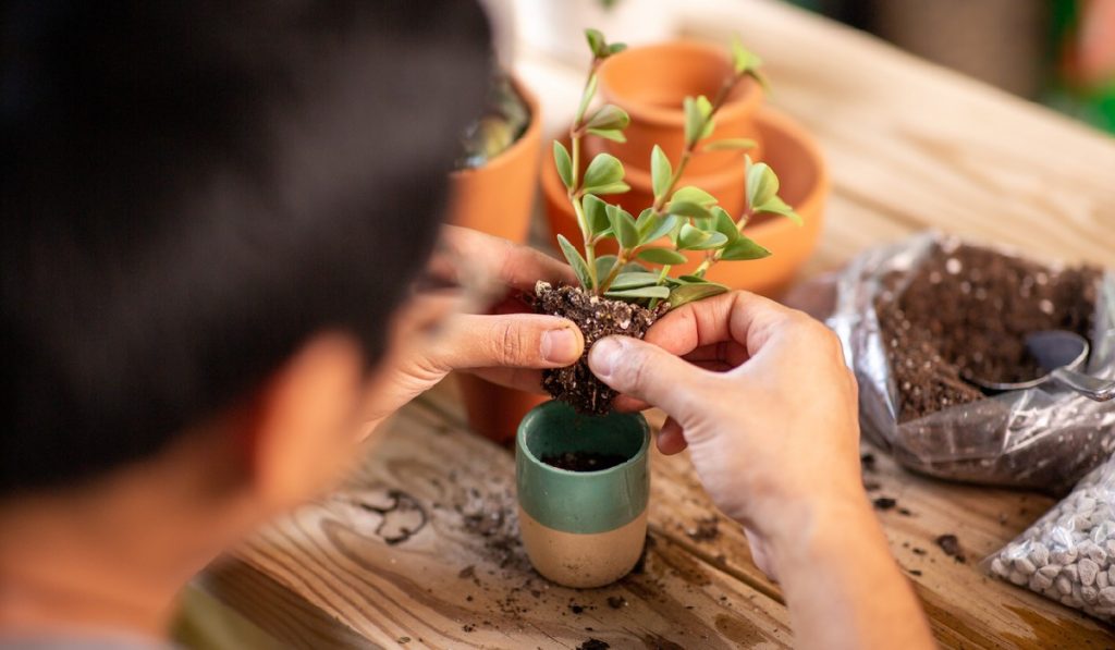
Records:
M685 420L695 386L705 370L658 346L631 337L608 337L593 343L589 368L601 381Z

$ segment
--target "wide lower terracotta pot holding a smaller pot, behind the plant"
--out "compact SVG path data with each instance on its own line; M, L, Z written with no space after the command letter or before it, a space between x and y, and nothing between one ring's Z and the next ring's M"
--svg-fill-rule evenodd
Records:
M796 122L773 109L756 116L758 133L767 143L766 162L778 174L779 195L805 221L797 226L784 217L760 216L745 229L747 236L770 250L773 255L748 262L721 262L708 273L708 279L734 289L745 289L764 295L779 295L791 284L798 266L817 245L821 236L825 200L828 196L828 169L813 138ZM542 191L546 217L553 233L565 235L580 248L581 231L565 188L553 165L543 165ZM623 195L605 196L614 202ZM626 207L626 206L624 206ZM611 242L608 242L611 243ZM598 253L614 253L601 245ZM583 251L582 251L583 252ZM673 268L675 274L697 268L704 253L689 252L688 264Z

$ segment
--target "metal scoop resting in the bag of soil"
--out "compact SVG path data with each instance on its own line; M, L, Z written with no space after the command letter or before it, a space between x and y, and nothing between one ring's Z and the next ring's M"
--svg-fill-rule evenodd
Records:
M1065 330L1034 332L1026 337L1026 348L1047 375L1012 384L972 377L972 384L991 390L1019 390L1054 381L1096 401L1107 401L1115 397L1115 381L1079 371L1088 358L1088 341L1084 337Z

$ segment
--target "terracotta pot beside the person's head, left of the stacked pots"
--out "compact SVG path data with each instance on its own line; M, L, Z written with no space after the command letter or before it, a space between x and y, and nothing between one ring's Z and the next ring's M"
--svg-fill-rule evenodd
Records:
M523 243L530 230L542 153L542 114L534 94L517 79L513 84L531 110L531 124L507 151L483 167L449 175L448 221Z

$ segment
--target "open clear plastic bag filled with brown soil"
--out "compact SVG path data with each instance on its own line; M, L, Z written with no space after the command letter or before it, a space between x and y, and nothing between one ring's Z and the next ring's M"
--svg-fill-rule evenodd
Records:
M1028 332L1089 340L1086 371L1115 377L1115 273L1048 265L928 233L872 249L813 287L860 384L866 439L942 478L1063 494L1115 448L1115 400L1050 384L986 395L971 376L1044 372ZM827 284L825 284L827 283Z

